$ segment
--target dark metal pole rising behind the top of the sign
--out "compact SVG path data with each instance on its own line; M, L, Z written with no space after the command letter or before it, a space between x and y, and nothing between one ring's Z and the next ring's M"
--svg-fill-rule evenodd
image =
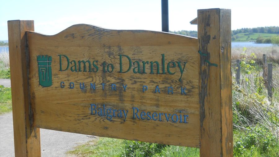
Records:
M162 2L162 32L169 32L169 2L168 0L161 0Z

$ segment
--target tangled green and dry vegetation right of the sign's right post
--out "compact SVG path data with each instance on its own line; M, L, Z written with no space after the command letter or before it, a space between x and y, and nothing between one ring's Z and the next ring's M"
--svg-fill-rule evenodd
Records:
M278 156L278 85L273 85L273 98L268 98L261 60L254 53L246 55L246 48L243 52L241 83L233 81L232 88L234 156ZM279 71L277 63L273 70ZM273 74L273 78L276 82L278 74Z

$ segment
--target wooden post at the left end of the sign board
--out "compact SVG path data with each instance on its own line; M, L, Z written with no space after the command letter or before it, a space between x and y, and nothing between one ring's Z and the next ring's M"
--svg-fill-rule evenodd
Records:
M40 130L31 125L26 31L34 31L33 20L8 21L9 55L15 156L41 156Z

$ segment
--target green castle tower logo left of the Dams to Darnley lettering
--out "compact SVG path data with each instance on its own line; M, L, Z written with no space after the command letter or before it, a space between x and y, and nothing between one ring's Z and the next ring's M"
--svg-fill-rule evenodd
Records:
M41 55L37 56L38 68L39 68L39 83L43 87L50 87L52 85L51 80L51 56Z

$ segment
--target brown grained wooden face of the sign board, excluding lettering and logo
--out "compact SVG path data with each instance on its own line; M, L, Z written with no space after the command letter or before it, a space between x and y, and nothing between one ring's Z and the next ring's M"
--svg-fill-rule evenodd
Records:
M53 36L27 32L27 39L34 126L102 137L199 147L197 38L155 31L109 30L79 24ZM165 55L166 74L162 74L162 54ZM52 56L51 87L39 85L38 55ZM76 62L98 61L99 71L72 72L70 68L59 71L58 55L66 55L70 61ZM129 56L132 62L157 61L160 74L156 74L156 66L153 68L154 74L150 74L150 64L145 67L147 74L142 74L142 64L141 74L133 73L134 65L129 72L119 73L119 55ZM61 59L64 70L67 62L65 58ZM103 61L113 64L113 72L103 71ZM176 63L176 67L170 70L175 72L173 75L167 73L166 66L170 61ZM128 60L123 58L122 62L122 68L127 70ZM181 81L177 62L187 62ZM62 81L64 88L60 87ZM73 89L70 89L70 82L74 83ZM85 89L80 89L80 83L85 84ZM90 89L90 83L95 83L95 90ZM101 83L105 83L104 90ZM116 84L116 91L112 90L112 84ZM122 84L127 85L126 91ZM143 92L143 85L148 86L146 92ZM160 93L155 93L156 86ZM168 94L168 87L173 87L173 94ZM181 94L181 87L186 87L186 95ZM92 115L90 104L100 107L105 104L106 109L128 110L127 118L125 121L118 117L108 120L105 116ZM139 112L188 115L187 123L167 121L164 116L162 121L133 118L132 107L137 107Z

